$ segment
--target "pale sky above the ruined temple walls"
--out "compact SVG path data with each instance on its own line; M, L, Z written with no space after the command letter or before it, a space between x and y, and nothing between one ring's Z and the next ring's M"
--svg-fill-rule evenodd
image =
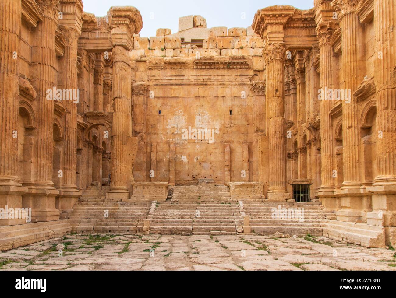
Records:
M110 6L135 6L143 17L140 36L155 36L158 28L178 31L179 17L202 15L207 27L248 27L258 9L276 4L289 4L310 9L314 0L83 0L84 11L97 17L107 14ZM243 16L246 16L243 18Z

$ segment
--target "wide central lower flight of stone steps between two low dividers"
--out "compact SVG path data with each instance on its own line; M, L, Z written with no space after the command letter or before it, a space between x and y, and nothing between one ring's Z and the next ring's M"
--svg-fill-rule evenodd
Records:
M151 221L152 234L235 235L242 224L238 202L161 203Z

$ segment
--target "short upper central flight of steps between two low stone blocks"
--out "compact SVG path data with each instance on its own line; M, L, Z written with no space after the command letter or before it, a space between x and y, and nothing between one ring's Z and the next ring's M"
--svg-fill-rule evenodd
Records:
M227 201L231 199L227 185L173 186L172 201Z

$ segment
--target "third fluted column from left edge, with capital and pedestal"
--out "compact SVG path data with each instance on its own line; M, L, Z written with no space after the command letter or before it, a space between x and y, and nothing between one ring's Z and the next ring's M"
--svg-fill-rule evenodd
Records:
M77 188L77 104L80 101L77 78L77 49L78 38L82 27L82 2L81 0L61 0L63 18L59 21L61 31L66 39L65 53L59 59L59 87L60 89L73 90L78 98L63 102L65 107L65 163L63 169L63 183L59 188L57 209L71 210L74 203L81 196ZM78 93L77 93L78 90Z

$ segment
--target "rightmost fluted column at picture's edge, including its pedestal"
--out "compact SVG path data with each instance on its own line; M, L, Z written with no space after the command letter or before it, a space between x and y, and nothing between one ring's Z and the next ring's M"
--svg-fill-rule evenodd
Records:
M390 29L392 28L392 30ZM396 242L396 6L392 0L374 0L375 86L377 88L377 177L373 212L367 223L385 226L385 241ZM373 132L375 133L375 132Z

